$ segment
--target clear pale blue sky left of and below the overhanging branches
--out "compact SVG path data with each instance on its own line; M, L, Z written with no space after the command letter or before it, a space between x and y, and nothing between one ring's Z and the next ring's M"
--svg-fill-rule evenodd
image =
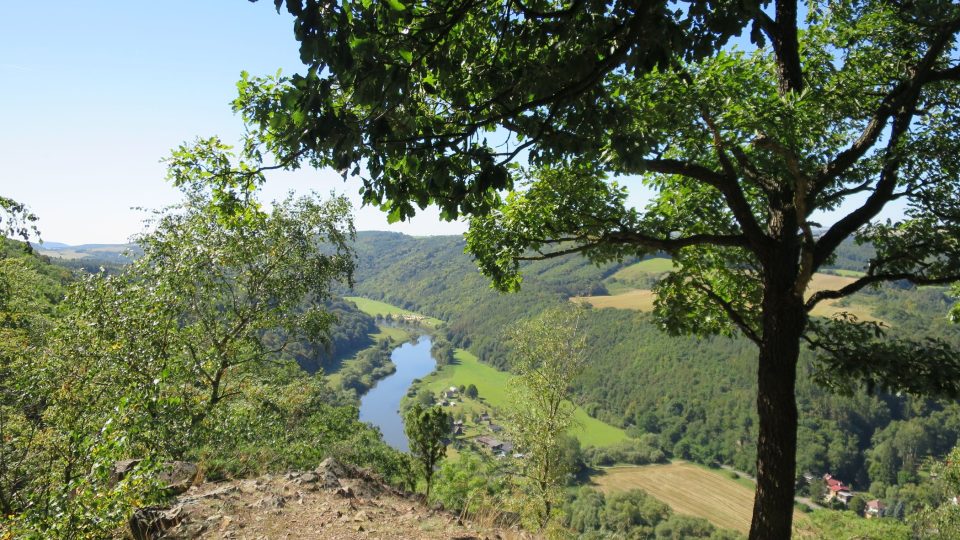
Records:
M230 110L240 72L299 70L292 18L273 2L92 0L0 3L0 193L40 217L46 241L125 242L145 215L177 201L159 160L197 136L235 142ZM356 197L332 171L279 173L289 189ZM388 225L357 209L357 228L455 234L428 210Z

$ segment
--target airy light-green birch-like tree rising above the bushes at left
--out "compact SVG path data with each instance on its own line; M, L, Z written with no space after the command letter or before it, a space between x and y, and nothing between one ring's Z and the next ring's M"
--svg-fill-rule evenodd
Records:
M81 282L57 339L58 356L89 365L70 371L93 377L75 384L123 381L144 399L153 443L173 457L195 447L208 417L244 395L288 343L326 338L333 316L319 301L354 264L342 198L288 198L269 213L248 199L228 215L199 188L186 195L137 239L141 257ZM303 309L308 299L318 302Z

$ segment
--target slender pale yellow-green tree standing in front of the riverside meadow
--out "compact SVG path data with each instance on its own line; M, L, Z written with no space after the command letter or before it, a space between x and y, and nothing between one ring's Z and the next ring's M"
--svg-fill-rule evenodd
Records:
M510 334L511 434L520 461L521 486L538 505L534 519L543 529L562 497L566 475L574 472L566 459L564 437L576 410L570 388L586 360L580 328L582 308L561 307L520 324Z

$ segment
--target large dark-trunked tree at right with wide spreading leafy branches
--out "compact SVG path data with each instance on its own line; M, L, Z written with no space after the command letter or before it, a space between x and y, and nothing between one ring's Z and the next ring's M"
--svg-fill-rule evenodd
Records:
M309 69L244 76L234 106L284 166L362 174L391 219L476 216L469 250L502 289L525 259L666 252L665 327L756 343L751 538L790 534L801 342L841 390L957 394L945 344L809 315L960 277L955 3L275 2ZM755 50L728 44L746 29ZM642 210L610 179L636 175ZM864 275L812 291L850 236L876 248Z

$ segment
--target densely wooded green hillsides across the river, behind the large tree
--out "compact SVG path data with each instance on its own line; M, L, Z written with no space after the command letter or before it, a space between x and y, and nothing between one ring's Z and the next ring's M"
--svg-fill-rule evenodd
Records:
M635 262L598 268L576 256L539 261L524 268L522 291L505 295L477 273L458 237L360 233L356 249L357 294L448 321L452 342L501 368L509 363L502 337L511 325L571 296L606 293L611 276ZM833 268L863 270L869 250L848 242ZM893 284L848 302L869 306L891 335L960 344L960 329L946 317L953 299L945 288ZM591 415L637 436L654 434L674 457L753 470L756 352L750 342L669 336L652 315L624 309L588 310L586 325L590 362L576 391ZM960 406L862 387L839 395L814 383L815 371L814 355L805 351L798 471L830 472L858 490L904 502L906 511L922 504L931 496L916 487L924 459L956 444ZM835 380L831 386L850 385Z

